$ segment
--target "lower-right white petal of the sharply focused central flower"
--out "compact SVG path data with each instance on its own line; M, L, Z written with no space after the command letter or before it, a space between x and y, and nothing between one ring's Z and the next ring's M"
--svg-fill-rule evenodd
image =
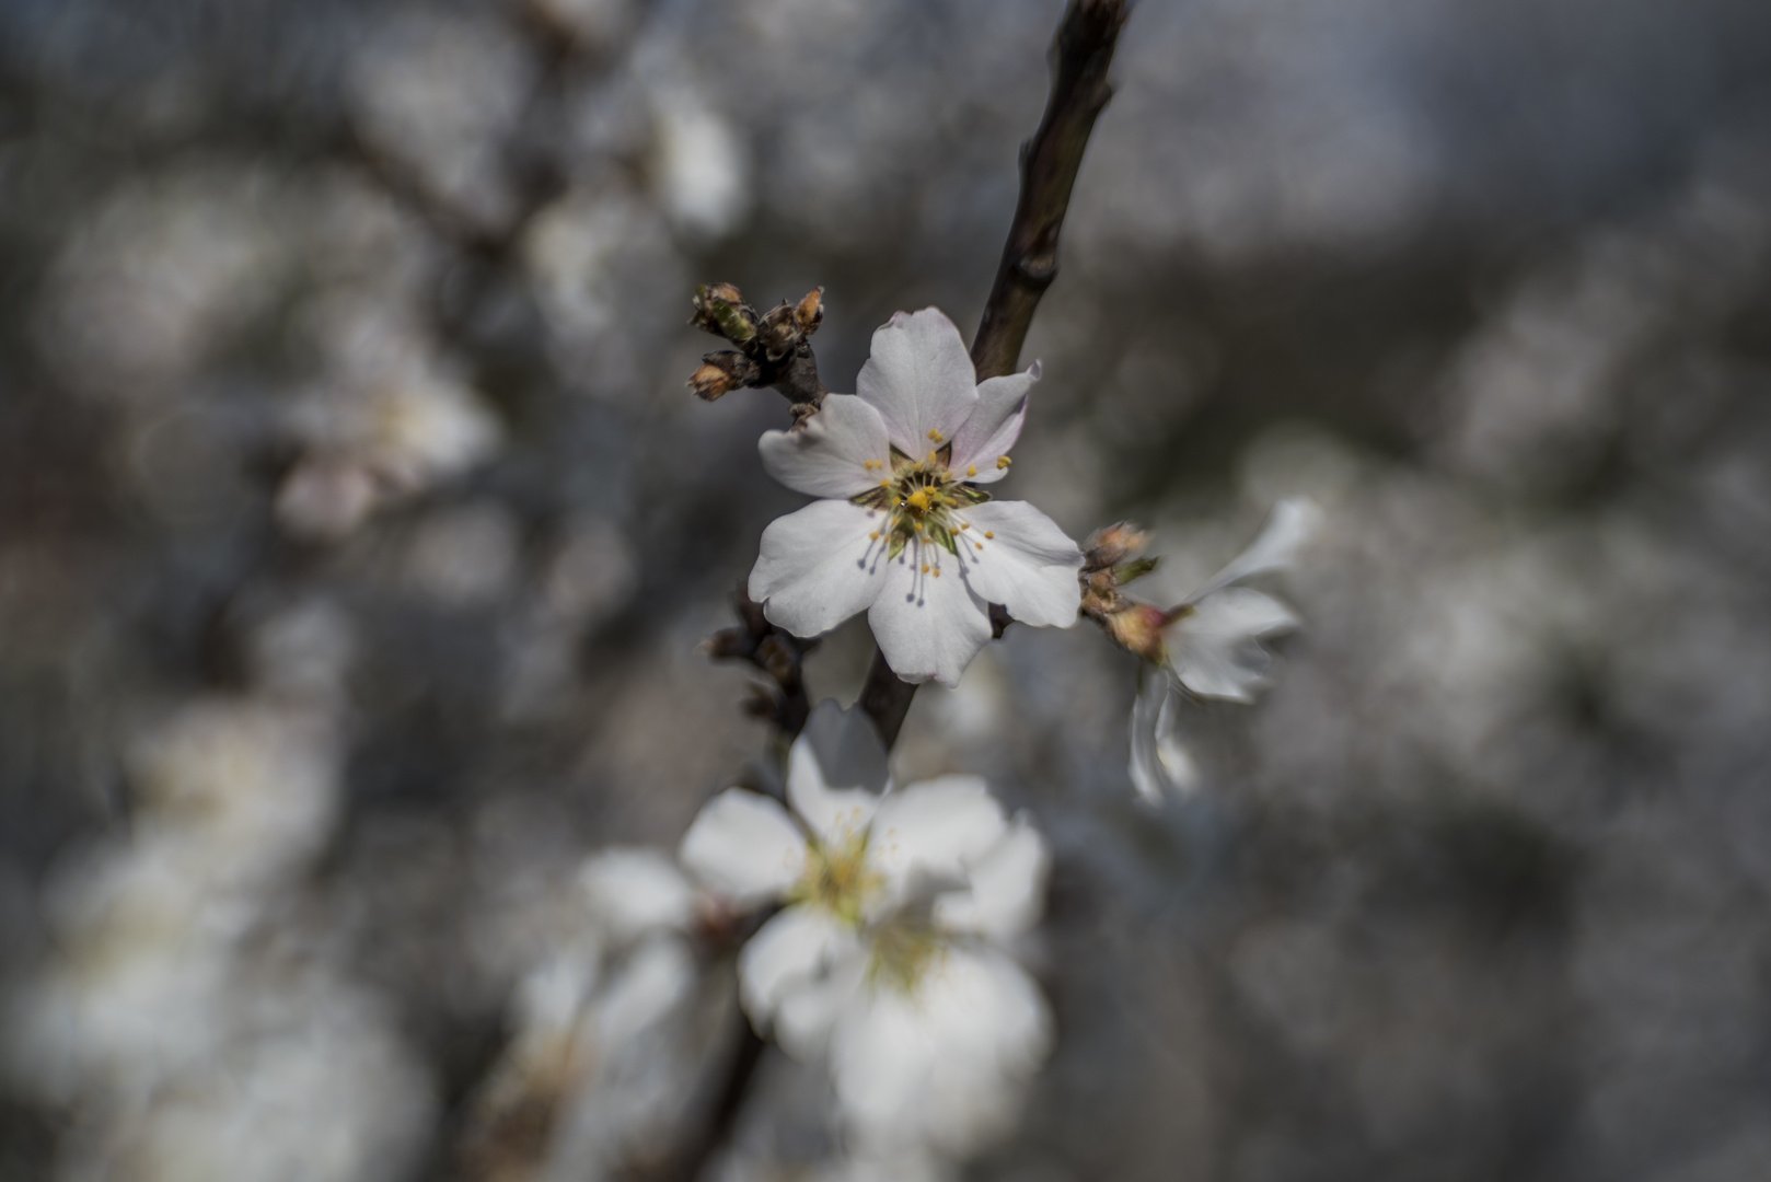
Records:
M1077 622L1082 551L1050 517L1027 502L985 502L958 516L971 523L956 539L969 558L965 581L974 592L986 603L1002 604L1022 624L1070 627Z

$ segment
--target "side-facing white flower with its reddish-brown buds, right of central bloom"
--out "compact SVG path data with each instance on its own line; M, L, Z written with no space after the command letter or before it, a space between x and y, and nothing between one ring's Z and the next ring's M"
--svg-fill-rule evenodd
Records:
M1190 790L1199 783L1197 764L1179 739L1178 712L1187 695L1247 704L1270 684L1273 657L1261 642L1295 629L1298 617L1272 595L1236 583L1291 565L1318 516L1307 500L1279 502L1249 549L1174 608L1119 592L1119 583L1155 565L1126 562L1142 546L1141 533L1119 525L1089 539L1084 611L1146 661L1132 707L1132 783L1146 801L1158 803L1165 787Z

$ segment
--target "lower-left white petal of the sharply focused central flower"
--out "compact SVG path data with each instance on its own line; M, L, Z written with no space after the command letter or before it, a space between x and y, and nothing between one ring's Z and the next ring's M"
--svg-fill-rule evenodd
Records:
M813 502L763 530L751 599L795 636L827 633L864 611L884 587L884 551L868 535L884 514L848 502Z

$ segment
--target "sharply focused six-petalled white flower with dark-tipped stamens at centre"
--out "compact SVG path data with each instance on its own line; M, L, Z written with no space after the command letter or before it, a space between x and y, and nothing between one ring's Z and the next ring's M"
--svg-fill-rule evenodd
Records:
M1073 624L1077 544L1032 505L978 487L1008 473L1038 379L1034 365L978 383L953 321L893 315L859 393L762 438L776 480L827 500L763 530L751 597L795 636L866 611L893 672L947 686L990 640L992 603L1022 624Z

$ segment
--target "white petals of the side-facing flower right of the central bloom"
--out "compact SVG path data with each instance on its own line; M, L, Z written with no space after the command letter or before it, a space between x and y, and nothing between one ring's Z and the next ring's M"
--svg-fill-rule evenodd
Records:
M1179 737L1188 695L1249 704L1272 684L1273 657L1261 640L1295 629L1298 617L1272 595L1236 583L1291 565L1318 516L1307 500L1279 502L1254 544L1178 608L1130 610L1155 627L1162 666L1139 670L1132 707L1132 783L1148 803L1158 803L1165 787L1187 792L1199 785L1199 766Z

